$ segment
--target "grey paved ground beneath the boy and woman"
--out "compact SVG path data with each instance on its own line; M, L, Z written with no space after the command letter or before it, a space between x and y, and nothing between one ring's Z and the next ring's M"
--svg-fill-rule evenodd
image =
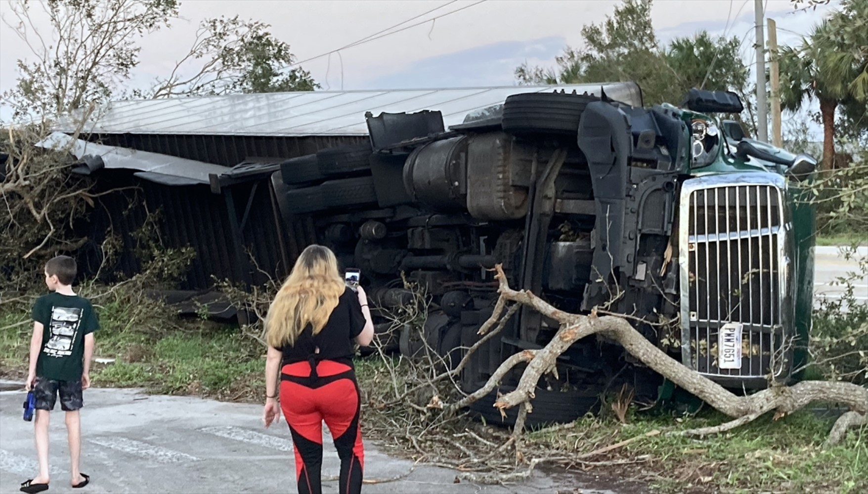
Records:
M0 492L17 492L19 484L37 471L33 425L22 420L24 396L22 391L0 392ZM91 476L91 483L81 490L69 486L66 431L58 405L50 426L49 494L297 492L289 429L285 422L264 429L260 405L117 389L87 390L84 399L82 471ZM337 492L339 459L325 438L323 477L332 480L323 487ZM542 473L510 486L455 484L456 471L418 466L407 475L412 465L367 441L365 478L386 482L365 484L363 492L615 494L589 489L577 478ZM388 481L401 476L405 477Z

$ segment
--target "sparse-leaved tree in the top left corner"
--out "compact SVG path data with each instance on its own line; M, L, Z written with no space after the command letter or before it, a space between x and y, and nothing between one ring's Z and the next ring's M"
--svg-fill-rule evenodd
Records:
M108 102L139 64L141 37L168 28L178 15L175 0L22 0L10 7L14 25L4 22L36 57L18 60L17 85L3 95L23 120ZM49 33L36 30L39 9Z

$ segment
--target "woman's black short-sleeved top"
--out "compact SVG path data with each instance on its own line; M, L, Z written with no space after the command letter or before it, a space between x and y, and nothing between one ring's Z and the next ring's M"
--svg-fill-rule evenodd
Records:
M283 365L303 362L315 356L318 360L335 360L352 366L352 339L365 329L365 314L358 303L358 295L349 287L338 300L328 322L316 335L312 326L307 327L295 340L295 345L278 348L283 352ZM316 349L319 347L319 353Z

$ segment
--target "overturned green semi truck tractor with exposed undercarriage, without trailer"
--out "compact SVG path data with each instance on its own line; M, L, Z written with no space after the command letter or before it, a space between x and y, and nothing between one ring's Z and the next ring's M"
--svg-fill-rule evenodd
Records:
M510 286L558 308L629 314L662 350L721 385L799 378L811 325L816 161L748 138L728 92L643 108L633 83L599 94L516 94L444 128L437 111L366 115L370 142L281 164L284 220L304 218L380 306L402 275L432 298L424 343L461 358ZM385 325L384 325L385 326ZM478 389L555 321L524 310L462 376ZM400 334L408 355L423 345ZM582 339L540 382L531 423L571 420L623 384L654 401L663 379L602 338ZM500 392L516 385L518 371ZM502 420L483 399L474 410ZM510 411L506 421L514 420Z

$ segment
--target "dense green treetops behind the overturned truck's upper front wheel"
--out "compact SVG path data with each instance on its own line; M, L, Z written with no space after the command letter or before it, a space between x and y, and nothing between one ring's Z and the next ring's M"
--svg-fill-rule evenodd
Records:
M601 24L582 27L584 49L567 47L558 71L516 69L521 83L638 82L646 104L679 103L687 89L731 89L745 94L748 70L738 38L702 31L663 47L654 35L651 0L625 0Z

